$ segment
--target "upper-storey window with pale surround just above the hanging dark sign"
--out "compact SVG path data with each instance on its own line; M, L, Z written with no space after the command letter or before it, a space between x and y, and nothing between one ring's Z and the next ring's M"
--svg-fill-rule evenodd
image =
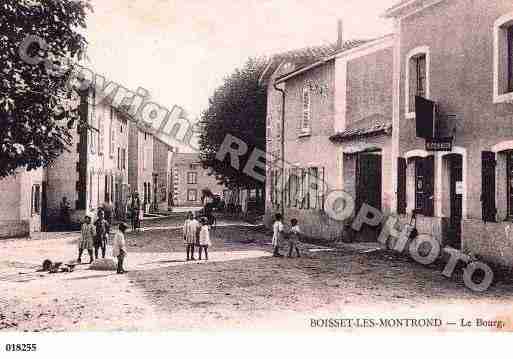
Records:
M415 96L429 98L429 48L418 47L410 51L406 61L407 118L415 116Z

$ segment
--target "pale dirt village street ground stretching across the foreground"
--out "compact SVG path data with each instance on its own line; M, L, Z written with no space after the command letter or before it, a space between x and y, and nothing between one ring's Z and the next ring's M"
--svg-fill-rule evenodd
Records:
M126 275L85 264L73 273L37 271L45 258L75 259L77 233L1 241L0 330L319 331L326 329L312 329L311 319L440 318L446 331L461 328L445 322L479 313L513 329L508 283L474 293L373 244L305 244L302 258L273 258L268 233L249 226L217 228L210 260L185 262L180 230L162 224L129 235Z

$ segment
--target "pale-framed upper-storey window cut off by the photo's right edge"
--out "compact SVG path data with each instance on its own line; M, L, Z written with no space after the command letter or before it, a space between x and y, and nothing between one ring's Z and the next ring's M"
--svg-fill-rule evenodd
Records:
M513 13L494 24L493 101L513 101Z

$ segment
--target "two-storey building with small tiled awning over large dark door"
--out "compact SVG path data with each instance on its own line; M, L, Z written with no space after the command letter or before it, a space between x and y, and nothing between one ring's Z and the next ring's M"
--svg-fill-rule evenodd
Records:
M386 211L393 197L393 36L339 43L330 55L302 66L283 60L267 83L274 166L267 169L266 222L283 212L287 220L297 218L306 235L330 239L344 232L343 223L325 212L330 190L350 193L357 207L371 202ZM282 145L284 155L277 156Z

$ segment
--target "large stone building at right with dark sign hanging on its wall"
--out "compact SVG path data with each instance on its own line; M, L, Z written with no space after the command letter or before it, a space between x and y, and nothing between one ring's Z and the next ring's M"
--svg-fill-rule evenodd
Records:
M513 2L402 1L395 22L393 146L396 209L420 213L419 232L511 266L513 241ZM415 96L436 104L426 151Z

